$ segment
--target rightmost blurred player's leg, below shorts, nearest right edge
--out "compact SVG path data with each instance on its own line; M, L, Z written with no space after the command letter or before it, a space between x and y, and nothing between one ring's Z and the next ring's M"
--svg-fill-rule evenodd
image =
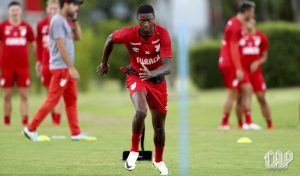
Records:
M271 119L271 112L270 112L268 102L266 100L265 92L257 92L256 93L256 98L257 98L258 103L260 105L262 115L264 116L264 118L266 120L267 128L268 129L273 128L272 119Z

